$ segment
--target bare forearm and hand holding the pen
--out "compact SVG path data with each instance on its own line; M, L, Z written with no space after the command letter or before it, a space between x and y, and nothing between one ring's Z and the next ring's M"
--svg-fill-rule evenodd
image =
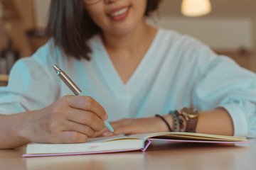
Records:
M28 142L78 143L104 128L107 114L88 96L64 96L37 111L0 115L0 149Z

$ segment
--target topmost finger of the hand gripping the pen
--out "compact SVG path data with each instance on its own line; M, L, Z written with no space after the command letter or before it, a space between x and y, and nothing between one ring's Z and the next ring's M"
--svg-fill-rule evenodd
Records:
M102 120L107 120L105 109L90 96L68 96L68 105L84 111L95 113Z

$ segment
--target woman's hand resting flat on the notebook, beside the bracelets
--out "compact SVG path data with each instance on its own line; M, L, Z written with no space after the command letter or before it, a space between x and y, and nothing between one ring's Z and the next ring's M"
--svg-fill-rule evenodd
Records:
M171 123L169 115L165 115L164 118ZM169 129L163 120L157 117L152 118L124 118L110 123L114 128L115 135L119 134L139 134L150 132L168 132ZM94 137L98 136L111 136L112 132L103 128L100 132L97 132Z

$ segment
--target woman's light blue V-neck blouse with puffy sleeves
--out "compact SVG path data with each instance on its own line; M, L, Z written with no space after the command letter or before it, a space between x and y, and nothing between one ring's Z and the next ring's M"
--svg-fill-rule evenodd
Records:
M0 113L40 109L72 91L53 64L68 74L82 94L92 96L109 120L164 115L193 106L223 107L233 118L235 135L256 137L256 75L229 57L218 56L187 35L159 29L142 62L126 84L107 55L100 36L89 41L92 60L68 58L49 40L32 57L18 60L9 85L0 88Z

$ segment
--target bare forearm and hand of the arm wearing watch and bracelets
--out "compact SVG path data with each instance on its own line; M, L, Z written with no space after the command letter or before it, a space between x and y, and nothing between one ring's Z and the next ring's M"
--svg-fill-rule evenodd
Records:
M164 119L174 129L174 120L171 115L164 115ZM112 123L117 134L135 134L149 132L168 132L166 124L160 118L122 119ZM233 120L228 111L217 108L214 111L200 112L196 132L214 135L233 135ZM106 129L102 130L104 136L112 135ZM101 135L99 132L97 135Z

